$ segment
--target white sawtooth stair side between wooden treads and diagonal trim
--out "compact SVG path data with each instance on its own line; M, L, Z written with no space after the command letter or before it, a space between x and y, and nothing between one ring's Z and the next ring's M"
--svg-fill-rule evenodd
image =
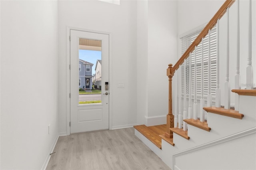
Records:
M187 140L175 133L173 136L173 142L175 144L174 146L171 146L166 141L162 140L162 160L172 169L175 168L174 166L176 166L176 168L178 167L180 169L186 169L186 168L179 167L178 165L175 164L175 162L173 162L172 157L175 154L179 152L183 152L184 150L189 150L191 148L195 148L195 147L210 143L212 141L218 141L222 138L226 138L227 136L239 134L240 132L244 130L248 130L250 128L255 128L256 127L256 97L240 95L239 103L240 103L239 113L244 115L242 119L236 119L232 117L226 117L223 115L217 115L214 113L208 113L208 127L211 128L210 132L194 127L192 125L188 125L188 136L190 137L190 140ZM254 143L256 141L255 135L254 135L253 141ZM244 145L248 145L248 144L246 142L243 142L243 144L241 143L236 147L243 148ZM218 150L218 148L215 148L215 149ZM219 151L219 154L220 153L229 154L226 152L225 149L218 150L218 151ZM256 152L256 147L254 147L254 152ZM236 156L236 154L233 156ZM194 158L194 157L192 156L190 157L190 159L191 158ZM246 158L248 158L248 156L246 156ZM256 157L254 156L254 158ZM206 156L206 159L207 159L207 156ZM196 158L194 162L198 162L198 160L199 159ZM186 161L187 161L186 159L183 159L183 164ZM223 160L223 162L225 162L225 159ZM209 167L209 166L205 166L202 169L205 169L206 167ZM194 167L192 169L198 169L198 168ZM223 168L220 167L220 169L223 169Z

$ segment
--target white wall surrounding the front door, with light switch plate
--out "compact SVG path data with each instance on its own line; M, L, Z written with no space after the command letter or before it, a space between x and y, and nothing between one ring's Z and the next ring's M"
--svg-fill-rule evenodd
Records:
M59 1L59 130L67 132L67 26L112 34L112 127L136 124L136 1ZM118 82L124 88L118 88Z

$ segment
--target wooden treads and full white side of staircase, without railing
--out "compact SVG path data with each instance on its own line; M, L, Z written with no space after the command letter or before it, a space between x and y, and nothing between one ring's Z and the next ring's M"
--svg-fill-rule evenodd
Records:
M204 107L208 120L203 126L200 121L185 119L187 135L174 130L174 147L162 141L162 160L174 170L255 169L256 91L243 91L248 94L239 95L239 112Z

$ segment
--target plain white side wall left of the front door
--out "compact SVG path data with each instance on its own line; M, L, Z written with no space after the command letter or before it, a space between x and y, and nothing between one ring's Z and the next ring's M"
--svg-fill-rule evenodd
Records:
M58 135L58 4L0 4L0 168L41 169Z

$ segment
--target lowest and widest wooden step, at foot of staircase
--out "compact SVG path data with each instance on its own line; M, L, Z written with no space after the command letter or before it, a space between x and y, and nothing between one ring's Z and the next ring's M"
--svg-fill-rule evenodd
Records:
M134 128L148 138L148 140L154 143L158 148L162 149L162 138L159 136L160 134L152 130L154 127L149 128L146 125L136 125Z

